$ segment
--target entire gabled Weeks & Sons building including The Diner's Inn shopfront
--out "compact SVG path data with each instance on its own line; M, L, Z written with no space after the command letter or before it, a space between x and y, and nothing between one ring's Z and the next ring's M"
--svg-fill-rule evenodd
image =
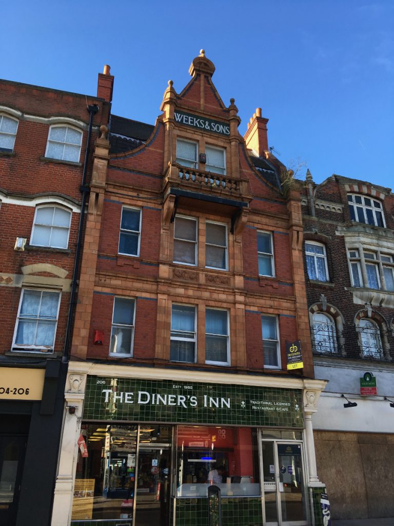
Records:
M300 195L214 69L96 148L54 526L322 524Z

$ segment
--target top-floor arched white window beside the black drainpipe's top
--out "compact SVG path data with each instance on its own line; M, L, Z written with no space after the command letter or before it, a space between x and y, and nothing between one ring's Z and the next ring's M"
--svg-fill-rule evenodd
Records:
M81 131L70 126L51 126L45 157L78 163L81 144Z

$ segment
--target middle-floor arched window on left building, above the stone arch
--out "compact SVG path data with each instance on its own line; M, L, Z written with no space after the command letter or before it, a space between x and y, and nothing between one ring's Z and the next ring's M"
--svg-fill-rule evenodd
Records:
M36 208L30 245L67 248L71 212L59 206Z

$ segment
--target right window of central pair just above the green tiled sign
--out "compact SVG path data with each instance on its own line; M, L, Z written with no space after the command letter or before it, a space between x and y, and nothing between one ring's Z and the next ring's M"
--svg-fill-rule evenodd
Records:
M205 363L229 365L229 312L205 309Z

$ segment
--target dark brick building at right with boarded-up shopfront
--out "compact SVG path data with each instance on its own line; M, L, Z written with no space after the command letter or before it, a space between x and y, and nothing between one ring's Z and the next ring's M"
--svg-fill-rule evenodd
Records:
M393 517L394 198L308 171L302 203L319 474L334 519Z

